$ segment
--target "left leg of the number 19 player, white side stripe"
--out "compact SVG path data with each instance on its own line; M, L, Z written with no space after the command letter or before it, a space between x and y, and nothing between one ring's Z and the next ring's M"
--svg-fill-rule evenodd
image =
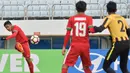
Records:
M64 62L62 65L62 72L61 73L68 73L68 68L70 66L73 66L76 63L76 60L78 59L79 53L76 50L76 48L72 45L65 58L64 58Z

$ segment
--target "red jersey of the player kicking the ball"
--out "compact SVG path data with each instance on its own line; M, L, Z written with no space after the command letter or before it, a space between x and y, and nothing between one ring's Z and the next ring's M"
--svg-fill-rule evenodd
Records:
M11 38L15 38L16 42L19 43L24 43L28 41L28 38L26 37L22 29L17 25L13 26L12 35L8 36L6 39L9 40Z

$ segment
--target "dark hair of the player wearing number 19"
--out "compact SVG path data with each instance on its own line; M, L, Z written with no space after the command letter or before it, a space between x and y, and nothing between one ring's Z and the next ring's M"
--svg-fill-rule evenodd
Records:
M84 1L79 1L76 3L76 10L78 12L85 12L87 4Z

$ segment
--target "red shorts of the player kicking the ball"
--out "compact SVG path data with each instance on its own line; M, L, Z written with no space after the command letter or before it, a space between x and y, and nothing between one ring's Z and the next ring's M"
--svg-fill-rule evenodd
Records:
M24 42L21 45L22 45L23 50L24 50L23 56L25 58L30 58L30 47L29 47L28 42Z

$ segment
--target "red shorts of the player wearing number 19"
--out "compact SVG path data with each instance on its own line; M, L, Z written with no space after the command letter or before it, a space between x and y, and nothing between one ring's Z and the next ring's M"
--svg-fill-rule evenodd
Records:
M71 44L63 64L67 66L74 66L80 56L83 66L91 66L89 48L89 44Z

